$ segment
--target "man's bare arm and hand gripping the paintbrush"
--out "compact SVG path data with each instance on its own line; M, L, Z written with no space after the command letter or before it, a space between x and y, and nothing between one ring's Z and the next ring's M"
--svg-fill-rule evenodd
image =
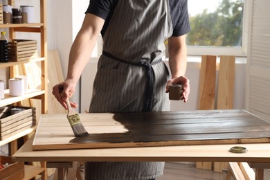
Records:
M53 87L53 95L65 108L64 101L73 95L80 75L91 57L104 22L104 19L92 14L87 14L84 17L82 27L71 46L66 80ZM59 89L62 89L62 94L60 94ZM77 107L73 102L71 102L71 106Z

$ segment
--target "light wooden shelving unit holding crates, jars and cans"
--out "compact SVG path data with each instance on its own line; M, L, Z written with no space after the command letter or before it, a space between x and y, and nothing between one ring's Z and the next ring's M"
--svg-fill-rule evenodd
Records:
M13 1L9 1L10 3L16 3ZM26 1L27 2L27 1ZM4 107L6 105L19 105L23 100L28 99L39 99L41 100L41 114L46 114L48 108L47 102L47 39L46 39L46 0L39 0L40 5L40 23L31 23L31 24L0 24L0 28L8 28L9 38L8 39L16 39L15 35L17 32L24 33L39 33L40 34L40 51L39 57L31 60L24 60L19 62L7 62L0 63L0 69L9 69L9 78L15 78L16 75L16 67L20 65L24 65L32 62L39 62L39 66L41 69L41 85L39 89L28 89L23 96L9 96L9 89L5 90L5 98L0 100L0 107ZM38 7L37 7L38 8ZM0 141L0 146L6 145L10 143L10 152L11 155L17 151L17 139L24 137L27 139L27 135L35 132L35 127L30 127L25 129L18 134L10 136L3 141ZM25 168L25 178L31 179L35 177L37 174L42 174L42 179L47 179L46 177L46 163L41 162L41 167L26 165Z

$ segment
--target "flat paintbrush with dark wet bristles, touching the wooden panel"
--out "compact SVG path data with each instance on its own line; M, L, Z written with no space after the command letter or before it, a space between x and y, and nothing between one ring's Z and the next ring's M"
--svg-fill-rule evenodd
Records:
M78 112L71 107L69 100L66 100L66 105L68 107L68 114L66 117L69 120L69 124L71 125L74 135L76 137L88 136L89 134L82 125L82 121L80 120Z

